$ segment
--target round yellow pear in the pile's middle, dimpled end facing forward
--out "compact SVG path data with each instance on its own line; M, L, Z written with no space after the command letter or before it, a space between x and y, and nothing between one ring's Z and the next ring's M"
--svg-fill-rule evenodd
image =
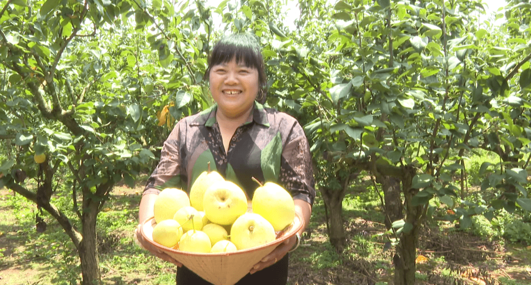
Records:
M203 211L213 223L232 224L247 211L247 197L238 185L223 180L204 192Z

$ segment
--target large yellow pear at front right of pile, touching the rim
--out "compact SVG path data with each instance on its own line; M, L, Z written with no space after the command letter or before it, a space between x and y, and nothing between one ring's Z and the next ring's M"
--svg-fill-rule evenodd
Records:
M238 250L260 246L275 240L275 229L257 213L245 213L230 228L230 241Z

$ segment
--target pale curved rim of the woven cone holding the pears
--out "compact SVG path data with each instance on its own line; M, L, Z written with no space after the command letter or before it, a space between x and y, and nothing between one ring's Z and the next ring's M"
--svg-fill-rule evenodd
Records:
M273 246L273 245L279 245L280 243L283 243L286 239L294 236L303 227L301 214L295 212L295 218L293 219L293 223L290 224L287 229L284 229L284 230L280 231L280 234L277 234L278 237L275 240L270 241L267 244L263 244L263 245L255 246L255 247L251 247L251 248L246 248L246 249L238 249L237 251L234 251L234 252L195 253L195 252L179 251L178 249L175 249L175 248L172 248L172 247L167 247L167 246L164 246L164 245L156 243L153 240L153 237L150 237L144 231L144 225L147 224L147 223L151 223L153 225L153 227L154 227L154 225L156 224L155 217L151 217L151 218L145 220L142 223L142 227L140 227L140 232L142 234L142 237L144 238L144 240L147 240L152 246L156 247L157 249L159 249L160 251L163 251L163 252L171 252L171 253L177 254L177 255L198 256L198 257L199 256L230 256L230 255L246 254L246 253L258 251L259 249L263 249L263 248L266 248L266 247L270 247L270 246Z

